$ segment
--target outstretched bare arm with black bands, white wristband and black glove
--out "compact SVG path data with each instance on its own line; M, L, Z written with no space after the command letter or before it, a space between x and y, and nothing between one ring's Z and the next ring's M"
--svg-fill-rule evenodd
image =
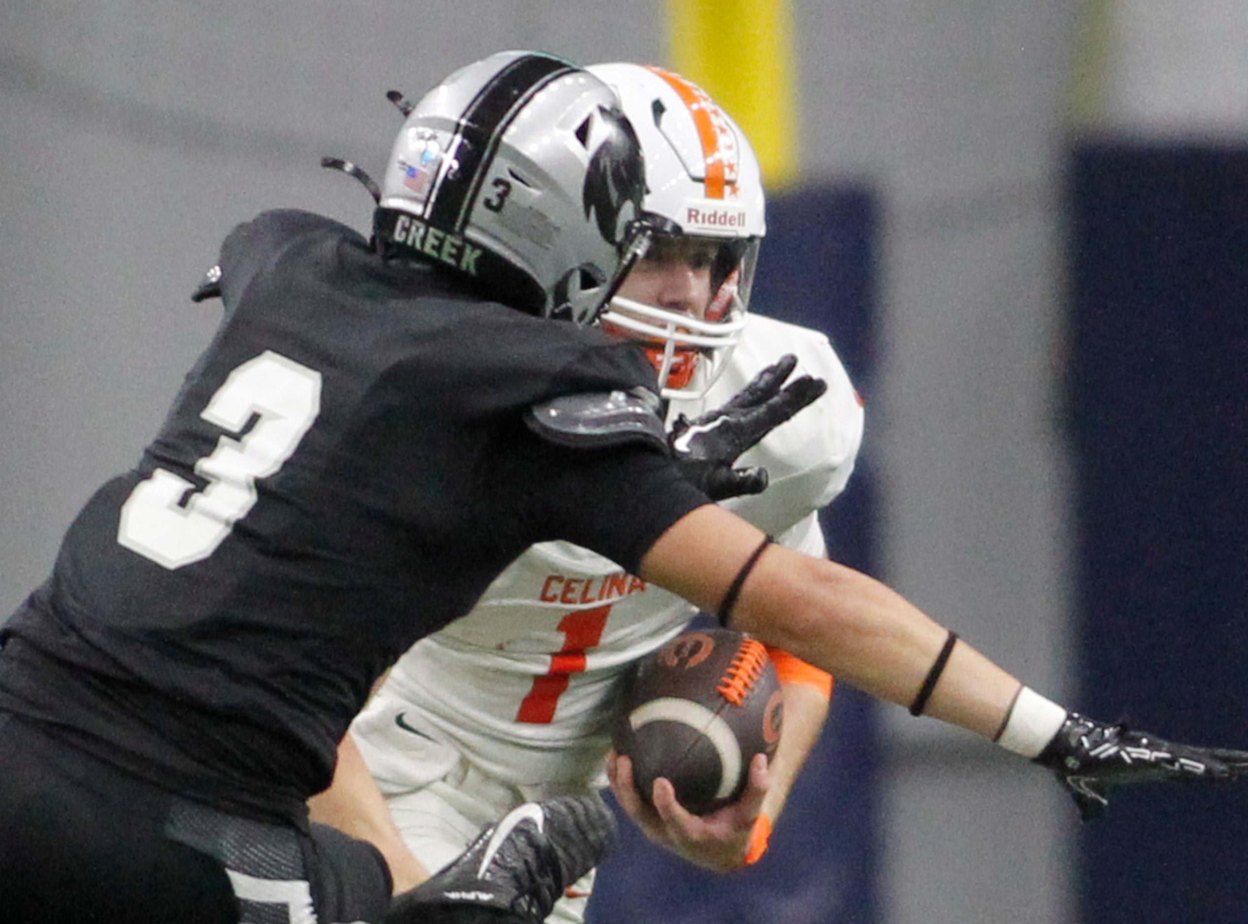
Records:
M1085 819L1104 809L1112 786L1248 776L1248 752L1067 712L872 577L763 540L726 510L701 506L659 537L638 572L871 696L1047 767Z

